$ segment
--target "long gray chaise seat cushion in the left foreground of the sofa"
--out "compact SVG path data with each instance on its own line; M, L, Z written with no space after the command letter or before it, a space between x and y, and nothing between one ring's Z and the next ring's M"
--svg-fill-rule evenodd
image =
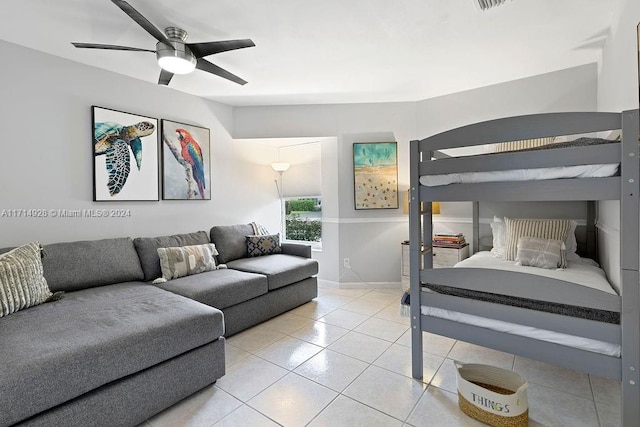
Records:
M219 310L142 282L70 292L0 320L0 414L9 425L224 333Z

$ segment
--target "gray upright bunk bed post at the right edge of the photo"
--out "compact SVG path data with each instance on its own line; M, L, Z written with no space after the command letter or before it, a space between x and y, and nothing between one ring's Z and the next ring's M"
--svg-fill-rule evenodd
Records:
M640 420L640 119L638 110L622 113L622 177L620 196L620 266L622 280L623 426Z

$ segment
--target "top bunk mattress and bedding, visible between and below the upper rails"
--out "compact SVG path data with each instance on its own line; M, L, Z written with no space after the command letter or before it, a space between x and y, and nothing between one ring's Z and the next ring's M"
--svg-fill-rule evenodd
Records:
M509 150L503 152L522 152L554 150L559 148L575 148L593 145L613 143L616 141L602 138L578 138L560 143L550 143L542 146ZM482 157L491 156L491 153L475 155L481 161ZM605 178L615 176L619 163L588 164L575 166L555 166L546 168L508 169L487 172L457 172L448 174L423 175L420 184L427 187L436 187L448 184L473 184L481 182L509 182L509 181L538 181L562 178Z

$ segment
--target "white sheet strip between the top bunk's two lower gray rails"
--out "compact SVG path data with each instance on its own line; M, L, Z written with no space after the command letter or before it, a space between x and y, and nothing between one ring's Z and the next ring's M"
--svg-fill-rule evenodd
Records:
M599 165L423 175L420 177L420 184L428 187L437 187L447 184L471 184L479 182L539 181L560 178L604 178L615 175L618 171L618 166L619 163L607 163Z

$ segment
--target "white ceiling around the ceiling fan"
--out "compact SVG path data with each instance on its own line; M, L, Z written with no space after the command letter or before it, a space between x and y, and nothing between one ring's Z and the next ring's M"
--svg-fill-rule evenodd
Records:
M597 62L620 0L128 0L189 42L252 39L207 59L244 78L196 70L170 87L229 105L417 101ZM110 0L14 0L0 39L157 82L155 48ZM4 60L4 58L3 58Z

